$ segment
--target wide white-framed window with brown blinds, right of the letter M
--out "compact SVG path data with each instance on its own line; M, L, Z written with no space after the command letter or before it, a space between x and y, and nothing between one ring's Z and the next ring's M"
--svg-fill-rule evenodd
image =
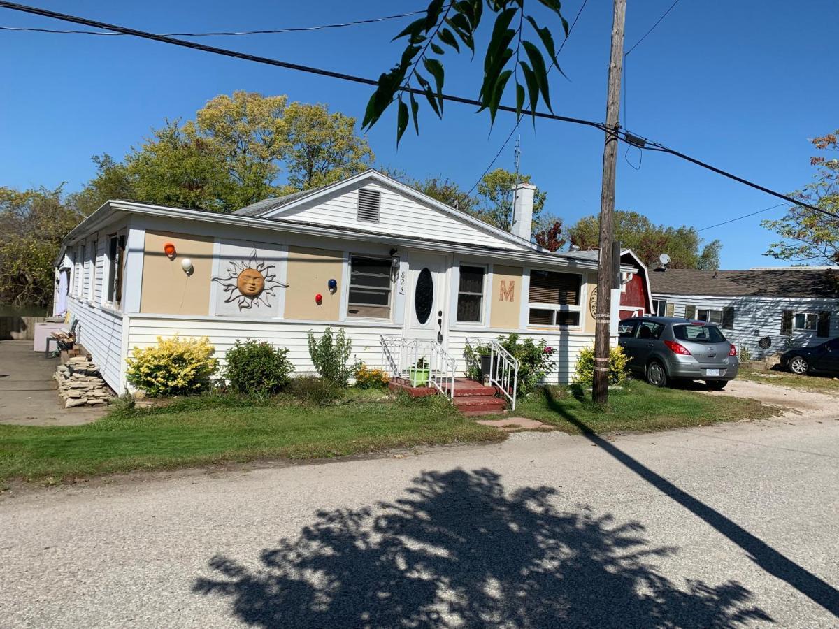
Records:
M528 325L577 327L581 321L579 273L530 270Z

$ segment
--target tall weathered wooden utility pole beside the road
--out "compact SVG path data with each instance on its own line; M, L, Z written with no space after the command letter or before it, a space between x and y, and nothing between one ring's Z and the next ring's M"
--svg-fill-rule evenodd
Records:
M614 0L612 53L606 101L606 143L603 147L603 181L600 191L600 255L597 266L597 315L594 329L594 384L591 399L605 404L609 398L609 329L612 319L614 254L612 231L615 213L615 170L618 167L618 113L623 71L623 23L626 0ZM619 257L619 256L618 256Z

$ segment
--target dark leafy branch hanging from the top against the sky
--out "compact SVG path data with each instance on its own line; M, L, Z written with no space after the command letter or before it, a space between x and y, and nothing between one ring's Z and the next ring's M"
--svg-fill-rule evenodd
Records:
M556 14L567 37L568 22L562 17L560 0L539 0L539 3ZM446 79L442 57L446 48L460 53L463 44L472 52L474 58L475 34L484 15L485 4L487 12L495 14L495 22L484 54L483 81L478 94L478 100L481 101L479 111L488 109L490 123L495 122L501 97L512 77L516 92L517 119L521 117L525 100L528 101L531 112L535 111L539 98L552 112L548 87L549 66L545 64L545 55L539 46L529 39L524 39L524 23L529 24L542 49L553 65L559 68L556 46L550 29L539 26L532 15L524 13L524 0L457 0L450 4L445 4L444 0L431 0L425 16L409 23L393 38L394 41L406 38L407 44L399 63L379 76L376 91L367 101L362 127L373 127L391 103L397 101L397 144L411 119L414 122L414 131L419 135L420 103L416 100L414 91L421 91L431 109L441 118L443 84ZM519 19L515 20L517 17ZM513 24L516 24L515 28ZM524 55L520 55L521 49L524 49ZM522 59L522 56L526 56L527 59ZM414 86L414 81L418 87ZM431 85L431 81L434 81L434 86ZM408 95L408 103L404 100L405 94Z

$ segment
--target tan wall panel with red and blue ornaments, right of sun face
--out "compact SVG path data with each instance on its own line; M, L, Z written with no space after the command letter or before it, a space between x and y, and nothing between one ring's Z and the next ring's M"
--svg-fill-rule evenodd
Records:
M341 315L341 274L344 254L325 249L289 247L289 265L285 289L285 319L337 321ZM335 294L330 294L327 282L338 281ZM315 302L315 295L323 295L323 303Z

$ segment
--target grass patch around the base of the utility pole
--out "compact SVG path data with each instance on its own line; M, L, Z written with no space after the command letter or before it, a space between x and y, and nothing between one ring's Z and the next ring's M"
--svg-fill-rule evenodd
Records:
M591 403L591 392L577 394L570 388L545 387L519 403L515 413L538 419L571 434L651 432L704 426L739 419L763 419L775 409L756 400L710 396L680 388L656 388L645 382L628 382L609 392L608 407Z

